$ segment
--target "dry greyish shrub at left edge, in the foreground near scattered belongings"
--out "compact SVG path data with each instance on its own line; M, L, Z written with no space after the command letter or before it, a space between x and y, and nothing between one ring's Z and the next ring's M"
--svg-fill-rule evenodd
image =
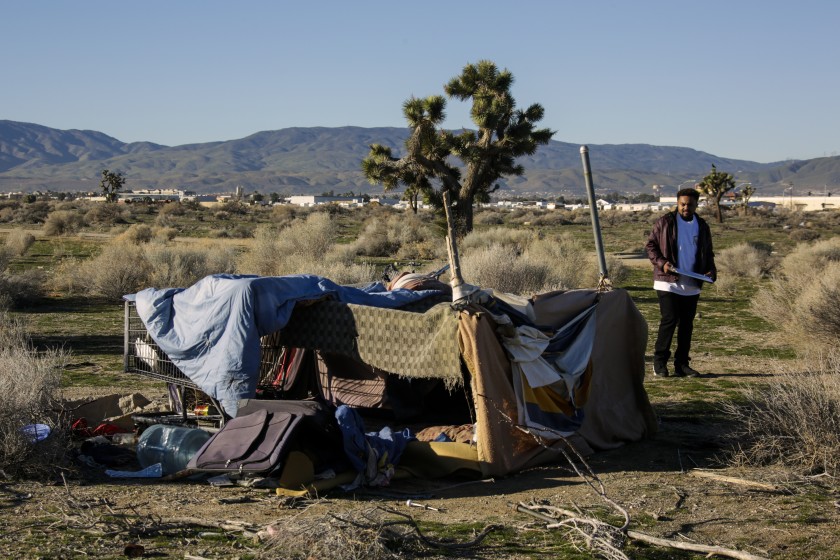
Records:
M0 469L6 476L38 478L60 467L68 437L56 415L60 409L62 351L36 352L24 326L0 312ZM26 426L45 424L49 437L35 442Z

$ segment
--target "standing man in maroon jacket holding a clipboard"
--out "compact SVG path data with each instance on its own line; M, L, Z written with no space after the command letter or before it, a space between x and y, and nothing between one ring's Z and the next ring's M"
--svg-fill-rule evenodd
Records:
M653 263L653 289L659 298L661 314L653 354L653 373L661 377L669 375L668 359L674 330L677 331L674 375L700 376L688 362L702 281L675 272L683 270L705 274L712 280L717 278L712 232L706 221L696 214L699 200L700 193L696 189L678 192L677 210L656 221L645 246Z

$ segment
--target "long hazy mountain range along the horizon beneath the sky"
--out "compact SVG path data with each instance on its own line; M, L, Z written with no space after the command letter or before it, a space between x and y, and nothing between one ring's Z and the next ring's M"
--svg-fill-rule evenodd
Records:
M325 191L380 193L360 171L373 143L400 154L404 128L285 128L238 140L183 146L124 143L92 130L57 130L0 120L0 192L98 190L103 169L119 171L127 189L179 188L199 193L245 192L319 194ZM690 148L648 144L589 145L598 191L651 192L654 184L675 187L706 175L712 164L750 181L762 194L821 191L840 185L840 157L756 163ZM584 192L580 145L551 141L522 158L523 177L508 179L504 191L523 196L580 195Z

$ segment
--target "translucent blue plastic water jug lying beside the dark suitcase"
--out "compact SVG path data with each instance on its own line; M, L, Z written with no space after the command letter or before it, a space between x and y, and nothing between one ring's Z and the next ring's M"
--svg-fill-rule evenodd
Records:
M154 424L137 440L137 461L143 468L161 463L164 476L182 471L210 433L197 428Z

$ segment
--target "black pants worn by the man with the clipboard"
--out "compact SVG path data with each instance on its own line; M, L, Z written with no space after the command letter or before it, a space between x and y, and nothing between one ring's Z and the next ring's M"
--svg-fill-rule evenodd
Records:
M671 341L674 339L674 330L676 330L677 350L674 352L674 364L688 365L691 359L688 354L691 350L691 334L694 331L694 315L697 313L697 301L700 299L700 294L680 296L656 290L656 295L659 297L659 313L662 318L659 321L653 363L656 366L664 366L668 363L668 358L671 357Z

